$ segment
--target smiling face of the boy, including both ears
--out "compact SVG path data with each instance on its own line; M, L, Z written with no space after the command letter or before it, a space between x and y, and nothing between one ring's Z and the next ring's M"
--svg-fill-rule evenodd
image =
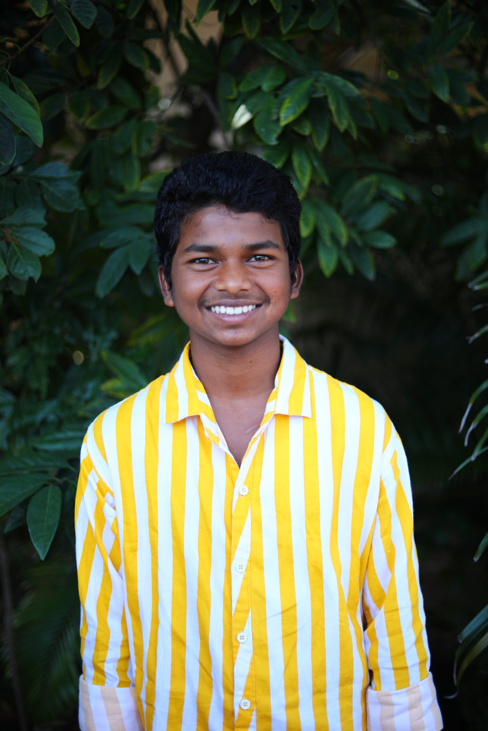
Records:
M171 279L170 290L159 267L165 303L176 307L190 337L241 346L277 329L290 298L299 295L303 270L299 264L292 284L279 224L261 213L211 206L181 227Z

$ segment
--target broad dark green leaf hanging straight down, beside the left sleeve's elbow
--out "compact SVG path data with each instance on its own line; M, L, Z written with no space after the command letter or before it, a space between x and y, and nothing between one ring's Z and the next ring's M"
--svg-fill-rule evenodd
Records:
M63 496L58 485L46 485L29 501L27 527L37 553L44 561L61 515Z

